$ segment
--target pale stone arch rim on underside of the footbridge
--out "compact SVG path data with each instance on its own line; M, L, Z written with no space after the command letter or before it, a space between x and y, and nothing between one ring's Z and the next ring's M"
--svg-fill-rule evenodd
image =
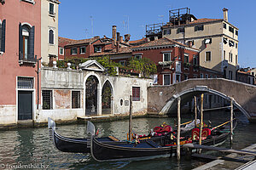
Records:
M182 92L178 94L173 94L172 98L169 99L166 102L166 105L162 108L160 111L160 115L166 115L169 111L174 111L177 109L177 98L180 97L181 101L188 102L188 98L191 99L193 96L197 94L204 94L204 93L209 93L209 94L215 94L218 95L224 99L231 100L231 97L219 92L218 90L212 89L212 88L207 88L207 86L195 86L195 88L189 88L186 90L183 90ZM244 110L239 103L236 102L236 99L233 100L234 105L245 115L247 116L247 119L250 119L250 115L247 113L246 110Z

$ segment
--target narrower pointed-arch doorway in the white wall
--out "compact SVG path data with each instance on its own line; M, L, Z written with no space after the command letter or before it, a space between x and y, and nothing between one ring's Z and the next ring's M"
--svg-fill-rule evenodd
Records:
M109 81L106 81L102 88L102 115L112 113L113 89Z

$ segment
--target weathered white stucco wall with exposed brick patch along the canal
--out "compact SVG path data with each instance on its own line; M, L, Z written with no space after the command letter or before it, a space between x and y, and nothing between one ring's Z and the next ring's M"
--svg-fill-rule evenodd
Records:
M135 77L110 77L98 71L68 71L67 69L42 69L42 90L53 90L53 109L39 110L36 122L47 122L47 117L51 116L56 120L76 120L85 114L85 82L88 77L95 76L98 79L98 116L102 115L102 87L107 81L113 89L112 114L129 114L129 102L132 94L132 87L140 87L140 101L132 102L132 112L134 114L145 114L148 108L147 88L153 80ZM71 92L80 91L80 108L71 109ZM63 97L61 97L63 96ZM123 105L120 100L123 99Z

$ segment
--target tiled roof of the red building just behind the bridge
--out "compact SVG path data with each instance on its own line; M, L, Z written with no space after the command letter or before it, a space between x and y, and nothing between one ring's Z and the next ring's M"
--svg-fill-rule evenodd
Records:
M171 39L169 39L167 37L162 37L160 39L157 39L157 40L154 40L154 41L151 41L151 42L143 43L142 45L138 45L138 46L133 47L133 48L145 48L145 47L154 47L154 46L163 46L163 45L174 45L174 44L183 46L185 48L189 48L188 45L183 44L181 42L177 42L177 41L171 40ZM193 49L196 49L196 48L193 48ZM199 50L199 49L196 49L196 50Z

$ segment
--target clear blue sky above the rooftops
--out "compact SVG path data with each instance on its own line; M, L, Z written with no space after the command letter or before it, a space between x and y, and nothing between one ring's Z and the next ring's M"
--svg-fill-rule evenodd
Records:
M112 26L131 40L145 36L146 25L168 22L169 10L190 8L196 18L223 19L229 9L229 22L239 29L238 63L256 67L256 0L60 0L59 37L84 39L112 37Z

